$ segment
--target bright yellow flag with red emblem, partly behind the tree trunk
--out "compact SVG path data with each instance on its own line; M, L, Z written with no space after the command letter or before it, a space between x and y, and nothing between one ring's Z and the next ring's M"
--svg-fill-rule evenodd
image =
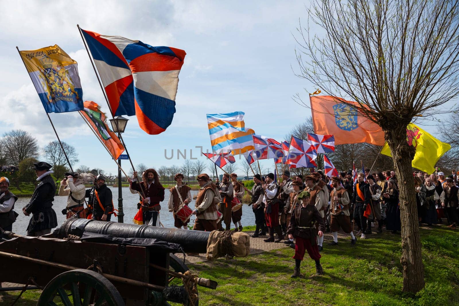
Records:
M408 145L412 145L416 149L411 166L429 174L435 172L437 161L451 149L451 145L436 139L413 123L410 123L406 128L406 141ZM392 157L387 142L382 148L381 154Z

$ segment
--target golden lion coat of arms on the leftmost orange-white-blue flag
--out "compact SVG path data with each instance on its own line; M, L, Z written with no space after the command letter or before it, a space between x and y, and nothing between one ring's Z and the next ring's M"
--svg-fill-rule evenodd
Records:
M43 67L39 67L40 82L50 103L56 100L77 103L78 92L75 90L72 77L67 69L45 55L39 61Z

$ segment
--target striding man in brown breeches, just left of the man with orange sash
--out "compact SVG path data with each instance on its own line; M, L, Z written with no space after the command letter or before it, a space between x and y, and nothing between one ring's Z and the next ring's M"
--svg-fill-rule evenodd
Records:
M351 235L351 245L355 245L357 239L354 236L349 218L349 194L341 185L341 178L331 177L333 190L330 194L330 229L333 233L333 241L330 245L338 244L338 231L340 228L344 233Z

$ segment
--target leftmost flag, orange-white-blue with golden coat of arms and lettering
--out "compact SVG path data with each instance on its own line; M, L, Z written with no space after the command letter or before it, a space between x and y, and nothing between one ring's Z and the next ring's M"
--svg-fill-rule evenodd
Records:
M47 113L83 110L77 62L58 45L19 51Z

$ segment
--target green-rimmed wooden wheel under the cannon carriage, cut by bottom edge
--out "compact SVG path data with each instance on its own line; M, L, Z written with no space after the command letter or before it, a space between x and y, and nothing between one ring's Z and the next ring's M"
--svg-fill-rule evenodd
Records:
M70 290L70 295L66 289ZM80 295L83 292L83 295ZM70 300L69 297L72 297ZM46 285L37 305L57 305L58 297L65 306L124 306L115 286L103 275L85 269L76 269L57 275Z

